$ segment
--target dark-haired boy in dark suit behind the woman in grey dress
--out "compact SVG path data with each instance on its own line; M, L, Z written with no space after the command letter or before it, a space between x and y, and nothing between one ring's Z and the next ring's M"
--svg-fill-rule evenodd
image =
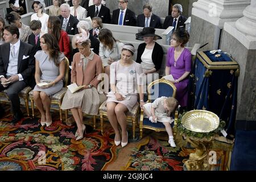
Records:
M30 29L32 30L32 34L28 36L28 44L33 46L33 52L36 53L42 50L40 46L40 35L42 28L42 23L40 20L32 20L30 22Z

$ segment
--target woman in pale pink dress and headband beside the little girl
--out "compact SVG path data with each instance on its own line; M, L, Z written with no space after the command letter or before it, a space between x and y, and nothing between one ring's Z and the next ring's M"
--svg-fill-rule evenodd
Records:
M109 122L115 131L114 143L116 146L121 143L122 147L128 143L126 111L131 111L138 102L138 93L141 107L144 104L143 83L140 81L142 67L141 64L131 59L134 52L133 44L125 44L122 48L121 60L110 65L111 92L107 95L106 107ZM122 129L121 135L118 124Z

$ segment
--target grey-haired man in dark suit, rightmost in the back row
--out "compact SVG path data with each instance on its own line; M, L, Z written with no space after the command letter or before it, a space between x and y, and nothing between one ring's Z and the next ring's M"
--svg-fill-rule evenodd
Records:
M166 29L169 26L173 26L174 30L176 30L179 27L185 27L185 21L187 18L185 18L182 13L182 6L180 4L175 4L172 6L172 15L166 16L166 19L164 19L163 28Z

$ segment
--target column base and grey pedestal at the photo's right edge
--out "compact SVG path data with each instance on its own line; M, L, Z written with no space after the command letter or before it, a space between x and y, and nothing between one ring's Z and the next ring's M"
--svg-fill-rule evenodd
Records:
M243 10L242 18L224 24L220 48L240 65L237 125L256 129L256 0Z

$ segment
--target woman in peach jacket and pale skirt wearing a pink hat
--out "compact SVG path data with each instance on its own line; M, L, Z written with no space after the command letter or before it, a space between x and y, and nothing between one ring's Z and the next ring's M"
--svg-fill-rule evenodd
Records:
M81 37L74 36L73 39L77 39L76 45L79 52L73 56L71 82L84 88L75 93L67 90L61 109L71 109L77 125L75 137L77 137L76 140L80 140L85 132L85 125L82 122L83 113L98 114L101 101L97 91L100 80L97 77L102 73L102 61L100 56L90 50L90 40L85 31L82 32Z

